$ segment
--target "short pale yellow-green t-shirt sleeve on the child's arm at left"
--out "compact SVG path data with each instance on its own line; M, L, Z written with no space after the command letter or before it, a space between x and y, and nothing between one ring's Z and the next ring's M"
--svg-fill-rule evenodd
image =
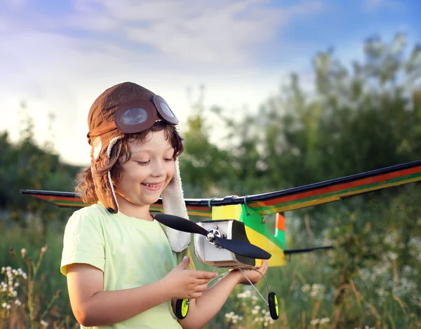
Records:
M66 224L60 272L67 275L67 265L90 264L104 271L105 250L102 227L97 218L76 211Z

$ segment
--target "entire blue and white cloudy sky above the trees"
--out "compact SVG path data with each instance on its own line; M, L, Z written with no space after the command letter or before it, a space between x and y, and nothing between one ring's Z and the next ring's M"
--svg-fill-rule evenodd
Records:
M187 87L201 83L206 106L253 111L292 71L311 83L317 51L333 47L346 64L369 36L420 42L420 12L417 0L0 0L0 111L10 117L0 131L18 139L26 100L37 140L51 112L56 152L86 164L88 110L109 86L137 82L181 122Z

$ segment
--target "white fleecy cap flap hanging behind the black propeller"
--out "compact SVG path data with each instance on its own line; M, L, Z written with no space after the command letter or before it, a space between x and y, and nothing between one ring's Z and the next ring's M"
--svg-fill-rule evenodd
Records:
M175 172L173 179L162 192L162 203L164 213L183 217L187 220L189 219L182 192L180 165L178 163L178 159L175 160ZM192 238L191 234L171 229L170 227L167 227L166 229L168 241L170 242L170 246L173 251L179 253L189 246Z

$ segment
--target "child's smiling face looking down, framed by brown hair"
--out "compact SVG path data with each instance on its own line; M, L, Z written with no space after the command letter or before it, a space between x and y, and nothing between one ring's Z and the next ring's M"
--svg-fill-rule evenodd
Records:
M116 186L119 206L149 206L155 203L173 178L174 149L163 130L149 133L145 142L129 143L131 159L123 163L123 175ZM121 196L121 198L119 197Z

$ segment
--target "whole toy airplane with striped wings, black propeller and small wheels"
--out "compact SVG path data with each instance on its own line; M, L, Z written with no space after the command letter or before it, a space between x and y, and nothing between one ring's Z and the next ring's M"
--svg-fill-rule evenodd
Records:
M259 262L267 257L267 255L262 253L263 251L272 255L268 260L269 267L279 267L286 264L286 255L332 248L331 246L321 246L316 248L286 249L283 212L339 201L359 194L420 180L421 161L413 161L283 191L252 196L227 196L223 199L185 199L189 215L211 217L211 220L199 222L198 224L185 220L185 222L191 223L194 227L187 227L190 224L180 222L181 224L177 224L178 228L173 228L195 233L194 252L199 261L205 264L210 264L214 267L239 267L240 269L254 267L255 260ZM71 192L29 189L23 189L21 192L22 194L30 194L36 198L49 201L60 207L81 208L86 206L76 194ZM161 199L151 206L151 211L163 213ZM274 234L272 234L265 223L265 215L272 213L276 213ZM165 219L166 217L167 220ZM174 220L174 218L168 221L168 215L155 215L155 218L158 221L162 220L163 224L179 222ZM184 220L180 217L179 219ZM168 226L171 225L168 224ZM242 241L242 244L239 241ZM215 243L218 244L218 248L210 246L210 244L215 245ZM241 245L243 248L234 245ZM272 304L270 300L272 300ZM269 293L269 302L267 304L269 305L269 310L271 310L271 316L273 311L274 316L272 318L277 318L279 309L274 293ZM186 302L184 304L178 302L179 310L180 307L181 311L183 309L186 311L188 304Z

